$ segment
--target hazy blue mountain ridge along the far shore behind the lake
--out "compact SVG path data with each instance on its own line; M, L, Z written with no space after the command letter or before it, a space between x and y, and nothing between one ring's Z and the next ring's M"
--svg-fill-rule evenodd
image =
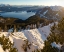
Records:
M13 12L13 11L32 11L36 12L37 10L43 8L44 6L32 6L32 5L5 5L0 4L0 11L4 12Z

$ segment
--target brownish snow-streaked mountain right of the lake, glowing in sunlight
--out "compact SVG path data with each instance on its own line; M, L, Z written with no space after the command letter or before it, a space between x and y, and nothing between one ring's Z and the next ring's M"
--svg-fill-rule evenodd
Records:
M64 17L64 7L47 6L36 12L36 15L40 16L41 18L59 20Z

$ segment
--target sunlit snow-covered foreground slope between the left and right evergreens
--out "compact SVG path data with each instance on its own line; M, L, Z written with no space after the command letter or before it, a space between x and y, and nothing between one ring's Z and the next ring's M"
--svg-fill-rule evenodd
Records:
M0 37L2 35L9 37L10 41L12 43L14 42L14 46L18 49L18 52L24 52L24 45L27 45L27 52L32 52L36 49L43 48L44 40L46 40L50 33L50 27L51 24L42 28L24 30L21 32L0 32ZM0 50L2 50L1 45Z

